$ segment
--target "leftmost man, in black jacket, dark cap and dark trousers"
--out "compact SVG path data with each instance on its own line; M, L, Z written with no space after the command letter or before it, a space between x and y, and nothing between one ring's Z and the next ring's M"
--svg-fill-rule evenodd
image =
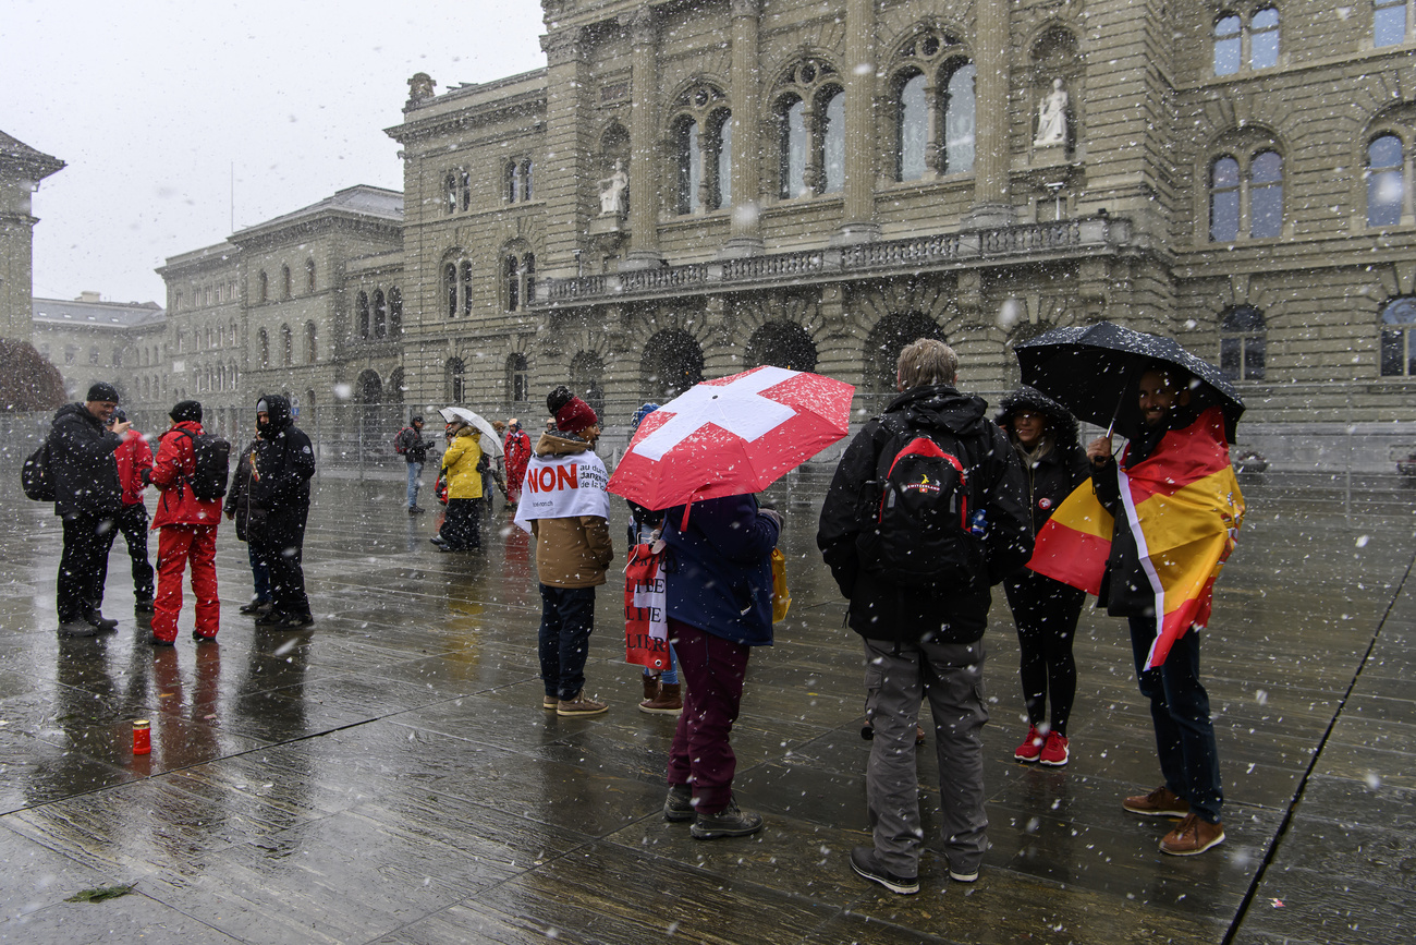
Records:
M112 384L93 384L84 404L65 404L50 428L50 475L54 514L64 519L64 554L55 582L59 636L93 636L118 621L99 612L108 553L118 534L123 489L113 451L123 445L126 422L106 424L118 407Z

